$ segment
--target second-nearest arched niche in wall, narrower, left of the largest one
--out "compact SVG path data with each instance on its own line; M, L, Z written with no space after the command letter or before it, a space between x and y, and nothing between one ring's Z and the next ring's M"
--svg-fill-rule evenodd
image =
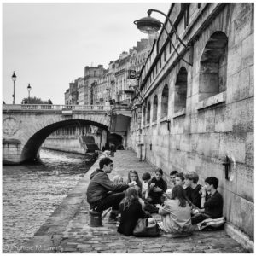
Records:
M188 72L185 67L181 67L177 73L174 93L174 112L186 108L188 89Z

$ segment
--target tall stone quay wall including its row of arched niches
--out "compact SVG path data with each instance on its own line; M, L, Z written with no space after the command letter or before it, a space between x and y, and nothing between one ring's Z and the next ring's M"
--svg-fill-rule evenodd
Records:
M253 240L254 5L190 3L186 28L180 5L173 3L168 15L192 45L183 58L189 60L192 51L193 66L169 52L160 32L140 78L145 101L133 110L131 147L165 172L195 171L201 184L218 177L224 216ZM173 42L182 54L183 46ZM228 180L226 155L232 161Z

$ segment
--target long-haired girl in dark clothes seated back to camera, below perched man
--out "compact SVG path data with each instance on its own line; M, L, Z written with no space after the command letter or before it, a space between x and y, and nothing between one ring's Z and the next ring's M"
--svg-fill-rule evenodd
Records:
M143 207L139 202L137 189L135 188L129 188L125 191L125 198L119 204L119 212L121 212L121 219L118 232L125 236L133 235L133 230L139 218L148 217L148 213L143 212Z

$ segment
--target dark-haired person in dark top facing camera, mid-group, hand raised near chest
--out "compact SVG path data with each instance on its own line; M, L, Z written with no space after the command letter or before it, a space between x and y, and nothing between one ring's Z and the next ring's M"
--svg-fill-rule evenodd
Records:
M163 170L157 169L154 177L148 183L148 199L150 203L156 205L162 203L162 195L166 192L167 183L163 180Z

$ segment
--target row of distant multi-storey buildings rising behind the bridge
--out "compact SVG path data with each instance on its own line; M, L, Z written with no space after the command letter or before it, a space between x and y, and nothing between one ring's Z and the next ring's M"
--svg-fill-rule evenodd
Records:
M123 51L119 59L109 62L108 69L104 69L102 65L84 67L84 77L69 84L69 90L65 92L65 104L130 102L131 96L125 95L125 90L131 85L128 73L135 70L137 76L139 75L157 36L158 34L155 34L150 35L149 39L143 38L129 52Z

